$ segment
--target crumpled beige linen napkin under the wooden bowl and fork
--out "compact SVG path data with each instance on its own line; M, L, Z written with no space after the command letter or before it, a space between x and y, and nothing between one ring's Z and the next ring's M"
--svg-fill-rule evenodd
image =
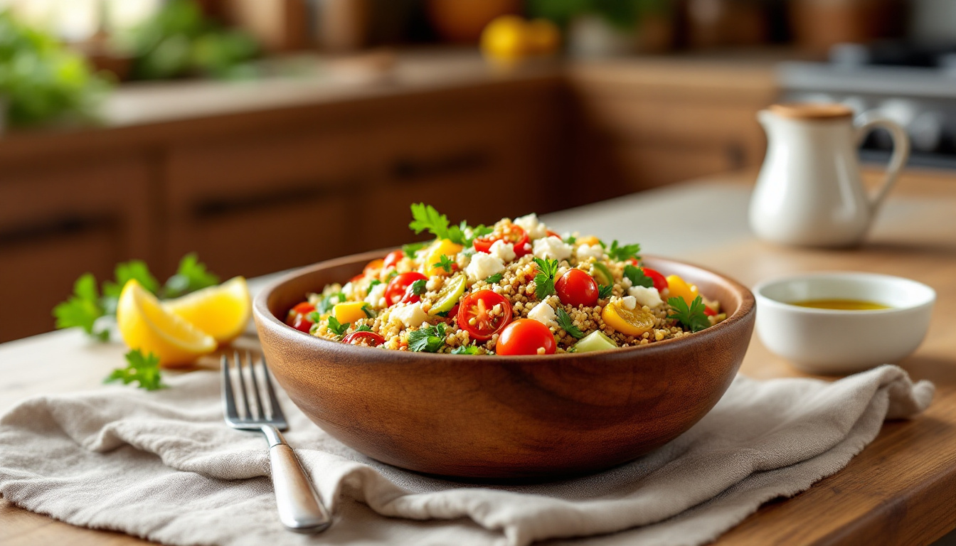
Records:
M697 545L842 469L883 420L912 417L933 395L888 365L837 382L739 376L697 426L633 463L506 487L370 460L284 399L287 438L336 513L324 535L302 536L279 524L265 441L223 425L218 375L168 383L14 407L0 418L0 493L69 523L176 545L523 546L622 530L576 543Z

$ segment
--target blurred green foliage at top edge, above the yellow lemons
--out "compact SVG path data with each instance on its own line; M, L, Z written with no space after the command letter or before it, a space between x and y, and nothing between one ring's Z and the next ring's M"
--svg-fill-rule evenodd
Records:
M648 13L669 9L669 0L528 0L528 13L567 28L580 15L597 15L621 31L633 31Z

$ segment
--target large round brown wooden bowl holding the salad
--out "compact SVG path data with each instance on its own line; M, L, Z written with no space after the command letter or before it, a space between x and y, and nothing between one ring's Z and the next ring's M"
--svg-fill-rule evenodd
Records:
M446 476L540 478L607 469L673 440L717 404L753 331L750 291L644 257L716 298L728 319L684 339L548 357L434 355L345 345L286 326L309 292L384 251L322 262L253 303L272 373L316 425L384 463Z

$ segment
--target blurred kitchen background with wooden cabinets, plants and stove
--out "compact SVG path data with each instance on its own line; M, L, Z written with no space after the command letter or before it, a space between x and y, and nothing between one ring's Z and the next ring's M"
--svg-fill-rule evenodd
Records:
M414 240L413 202L489 223L755 169L781 99L956 168L953 0L2 4L0 341L129 258L254 276Z

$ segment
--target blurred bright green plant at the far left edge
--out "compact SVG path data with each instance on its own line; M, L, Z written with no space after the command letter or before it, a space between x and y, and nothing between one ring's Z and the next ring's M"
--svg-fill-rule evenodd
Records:
M109 88L81 55L0 11L0 98L11 126L90 120Z

